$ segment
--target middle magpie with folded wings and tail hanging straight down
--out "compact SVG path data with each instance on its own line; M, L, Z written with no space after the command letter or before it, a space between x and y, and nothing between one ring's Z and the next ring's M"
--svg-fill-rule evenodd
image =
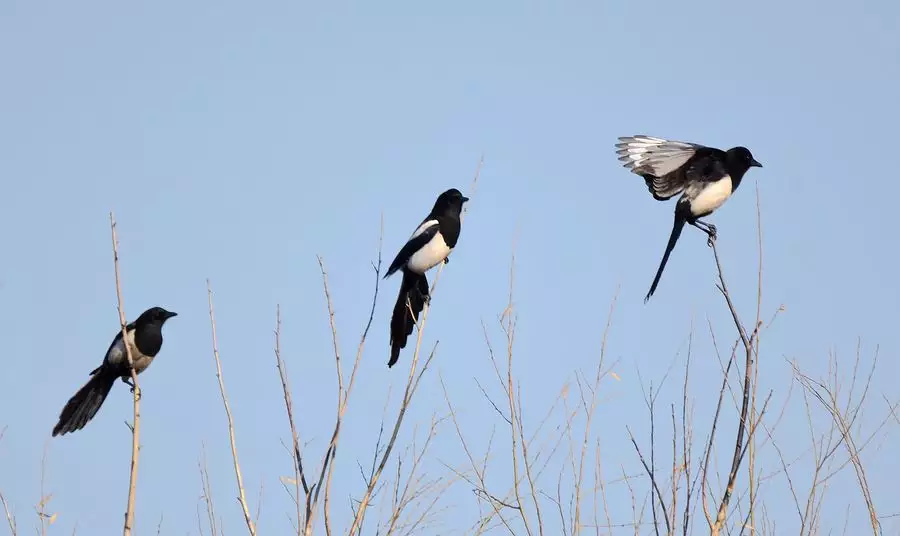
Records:
M406 347L406 339L419 319L419 313L431 299L425 272L442 261L445 264L450 262L448 256L459 239L459 215L463 203L468 200L456 188L450 188L439 195L431 212L397 253L384 275L386 279L397 270L403 272L400 293L391 316L391 358L388 368L397 362L400 350Z

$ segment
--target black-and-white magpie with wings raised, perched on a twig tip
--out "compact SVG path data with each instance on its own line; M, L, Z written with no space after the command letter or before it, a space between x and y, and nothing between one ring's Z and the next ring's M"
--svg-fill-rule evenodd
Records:
M675 205L675 223L659 270L644 302L656 291L669 254L678 242L685 223L707 234L709 245L716 238L716 226L701 221L734 194L751 167L762 167L746 147L727 151L696 143L664 140L652 136L619 138L616 153L624 166L644 178L653 197L665 201L681 194Z

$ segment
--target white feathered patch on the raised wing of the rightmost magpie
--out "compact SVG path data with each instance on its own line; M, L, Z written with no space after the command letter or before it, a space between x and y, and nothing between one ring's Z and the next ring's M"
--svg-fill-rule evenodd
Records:
M662 177L683 166L694 156L698 147L693 143L653 136L623 136L616 144L616 154L632 172Z

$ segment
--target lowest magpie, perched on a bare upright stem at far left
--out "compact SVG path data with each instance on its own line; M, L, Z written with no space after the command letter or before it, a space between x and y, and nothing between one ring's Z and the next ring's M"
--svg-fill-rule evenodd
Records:
M137 320L125 326L132 362L138 374L150 366L162 348L163 324L177 315L178 313L166 311L162 307L151 307L141 313ZM134 391L128 355L125 353L125 345L122 344L121 329L106 350L103 363L92 370L90 375L91 379L66 402L60 412L59 421L53 427L54 437L84 428L103 405L116 379L122 378L122 382L130 385Z

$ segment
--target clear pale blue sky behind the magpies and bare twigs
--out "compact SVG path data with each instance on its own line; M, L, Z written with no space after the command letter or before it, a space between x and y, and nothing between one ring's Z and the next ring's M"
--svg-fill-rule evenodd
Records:
M849 372L858 341L865 363L880 345L862 419L863 432L874 429L884 397L900 399L898 21L900 8L883 0L0 2L0 490L22 532L35 524L41 457L59 410L117 329L110 210L129 319L153 305L179 313L141 378L138 534L155 533L160 515L163 534L198 533L204 443L218 511L229 533L241 532L205 279L248 497L255 509L262 484L260 532L284 534L291 505L278 477L291 475L291 464L272 352L276 304L312 466L336 398L316 255L350 358L368 315L381 215L388 263L449 187L472 201L425 331L424 345L440 340L434 368L401 444L415 424L446 413L439 375L478 450L492 427L503 430L475 380L499 395L481 322L502 346L496 318L514 240L526 427L576 371L591 376L619 288L608 358L618 360L620 381L603 383L595 423L608 470L640 473L625 433L629 425L647 445L638 371L645 385L658 385L670 365L681 374L692 324L696 434L705 437L720 382L707 319L723 348L733 326L695 229L644 305L674 203L654 201L616 160L616 137L630 134L745 145L764 164L711 218L751 321L758 183L764 315L785 306L763 339L761 392L774 390L780 408L792 384L788 360L820 377L830 353ZM371 459L385 400L391 392L396 402L412 355L386 367L398 285L382 285L347 414L332 506L340 527L348 497L363 489L356 463ZM661 421L679 392L670 379ZM726 409L723 448L736 420ZM131 410L117 384L84 430L49 441L54 532L121 530ZM807 452L804 414L795 385L777 431L788 458ZM820 410L817 422L827 423ZM900 512L895 432L864 457L883 515ZM777 470L767 456L765 469ZM447 425L429 474L446 472L442 463L465 464ZM497 474L508 471L498 460ZM800 470L797 478L808 477ZM555 492L555 484L544 487ZM646 484L634 483L640 494ZM849 533L862 534L852 474L832 486L823 528L840 531L849 505ZM769 489L769 517L796 533L784 478ZM630 521L627 489L608 493L613 521ZM461 533L475 520L467 484L443 506L426 534ZM885 519L884 530L900 533L900 521Z

